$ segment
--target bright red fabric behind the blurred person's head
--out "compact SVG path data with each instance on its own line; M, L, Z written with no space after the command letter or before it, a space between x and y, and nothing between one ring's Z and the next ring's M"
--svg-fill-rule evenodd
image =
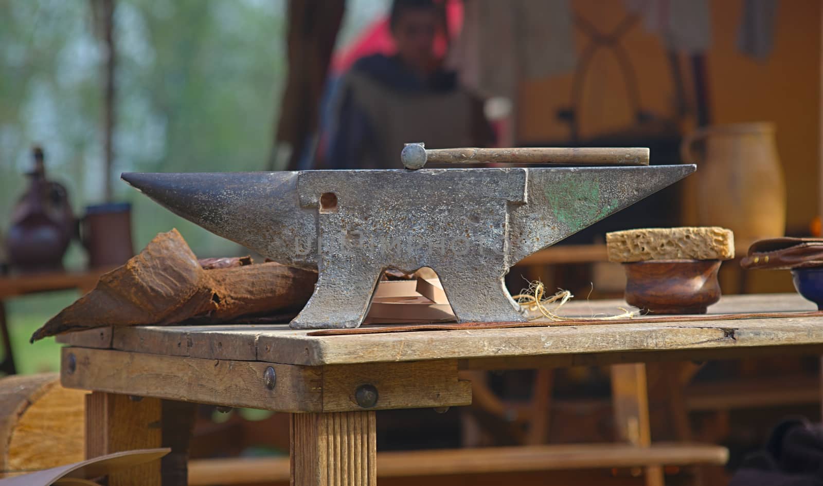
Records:
M446 24L449 36L455 38L463 27L463 2L447 0ZM439 57L446 55L448 43L443 36L435 39L435 53ZM392 31L388 25L388 16L375 19L350 44L343 46L332 57L332 74L338 76L346 72L357 59L371 54L381 53L392 55L397 52L392 38Z

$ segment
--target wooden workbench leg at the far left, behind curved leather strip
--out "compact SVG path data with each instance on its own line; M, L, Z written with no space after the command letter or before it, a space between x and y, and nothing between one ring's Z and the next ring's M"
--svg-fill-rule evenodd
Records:
M156 398L94 391L86 396L86 458L160 447L161 406ZM161 486L160 461L109 475L109 486Z

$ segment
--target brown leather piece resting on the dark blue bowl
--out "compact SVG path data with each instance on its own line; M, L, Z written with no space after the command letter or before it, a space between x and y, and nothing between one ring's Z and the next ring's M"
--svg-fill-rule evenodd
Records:
M780 270L823 266L823 238L768 238L751 244L740 266Z

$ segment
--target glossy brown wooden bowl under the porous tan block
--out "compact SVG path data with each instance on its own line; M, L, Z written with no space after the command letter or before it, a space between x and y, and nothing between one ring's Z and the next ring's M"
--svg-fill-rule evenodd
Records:
M704 314L720 299L719 260L624 263L625 301L653 314Z

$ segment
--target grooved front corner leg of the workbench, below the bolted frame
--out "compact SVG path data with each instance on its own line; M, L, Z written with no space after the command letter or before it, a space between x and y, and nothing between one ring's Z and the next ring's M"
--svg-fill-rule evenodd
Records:
M374 411L291 414L292 486L376 486Z

